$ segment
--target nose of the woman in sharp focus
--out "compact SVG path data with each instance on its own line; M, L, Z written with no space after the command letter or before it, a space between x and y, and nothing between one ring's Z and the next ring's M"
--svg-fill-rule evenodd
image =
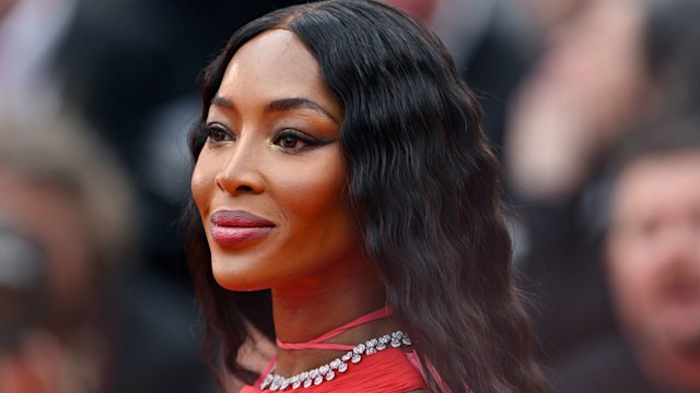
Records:
M265 190L265 178L259 165L261 153L255 148L255 141L245 138L237 141L215 176L217 187L231 195L261 193Z

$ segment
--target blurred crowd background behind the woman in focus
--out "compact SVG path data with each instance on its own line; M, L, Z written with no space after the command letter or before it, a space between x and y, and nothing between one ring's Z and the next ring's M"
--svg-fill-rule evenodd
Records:
M700 392L700 1L386 2L481 99L553 390ZM0 392L215 391L185 140L203 67L292 3L0 0Z

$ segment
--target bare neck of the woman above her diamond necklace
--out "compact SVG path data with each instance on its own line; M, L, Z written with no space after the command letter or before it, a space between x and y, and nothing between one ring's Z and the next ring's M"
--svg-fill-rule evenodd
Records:
M335 327L385 306L384 285L376 271L363 259L338 262L345 269L300 278L272 289L272 310L277 337L284 343L314 340ZM357 344L395 330L385 318L353 327L328 343ZM342 355L337 350L280 349L277 372L291 376Z

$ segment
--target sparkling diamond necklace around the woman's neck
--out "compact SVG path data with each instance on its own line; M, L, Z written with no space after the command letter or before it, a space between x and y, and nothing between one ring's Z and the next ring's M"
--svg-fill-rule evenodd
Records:
M275 392L288 390L289 388L296 390L319 385L325 381L332 381L338 376L337 373L348 371L348 362L357 365L362 360L362 356L374 355L377 352L386 349L388 346L398 348L409 345L411 345L411 340L401 331L396 331L390 335L385 334L381 337L368 340L364 343L355 345L352 350L348 350L345 355L328 364L289 378L276 374L275 369L272 369L265 377L262 383L260 383L260 390L269 389Z

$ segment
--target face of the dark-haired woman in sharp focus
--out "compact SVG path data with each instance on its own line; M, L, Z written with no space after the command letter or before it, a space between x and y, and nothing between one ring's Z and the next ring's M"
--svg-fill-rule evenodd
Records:
M234 55L191 181L220 285L253 290L324 278L361 258L341 120L293 33L265 32Z

